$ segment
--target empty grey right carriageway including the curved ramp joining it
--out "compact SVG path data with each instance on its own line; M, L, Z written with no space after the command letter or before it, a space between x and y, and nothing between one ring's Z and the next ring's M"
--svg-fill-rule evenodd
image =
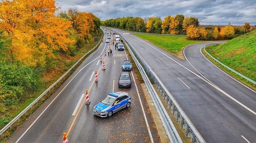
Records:
M132 34L123 37L155 71L207 143L256 142L256 92L203 56L201 48L213 42L186 47L182 60Z

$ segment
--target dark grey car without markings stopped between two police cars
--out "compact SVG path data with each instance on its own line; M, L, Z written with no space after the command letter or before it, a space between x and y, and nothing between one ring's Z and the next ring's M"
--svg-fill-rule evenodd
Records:
M131 87L132 80L130 73L127 71L122 71L118 78L118 87Z

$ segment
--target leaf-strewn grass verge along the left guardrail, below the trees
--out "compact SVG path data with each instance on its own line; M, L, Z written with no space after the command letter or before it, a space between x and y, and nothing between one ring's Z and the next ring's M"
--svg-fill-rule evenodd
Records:
M101 33L102 34L102 33ZM101 35L98 35L98 39L101 39ZM55 81L57 81L64 73L66 73L81 57L84 56L90 49L95 47L98 43L94 42L94 37L89 41L89 44L86 44L83 48L77 49L74 53L75 56L67 56L65 54L57 54L56 60L52 63L51 69L43 70L45 73L41 73L40 78L40 89L33 93L24 93L24 98L15 105L8 106L8 109L4 113L0 113L0 129L5 127L12 119L14 119L21 111L23 111L28 105L30 105L38 96L40 96L49 86L51 86ZM81 63L81 62L80 62ZM74 69L75 70L75 69ZM74 71L73 70L73 71ZM73 72L71 71L71 73ZM71 75L71 73L69 75ZM69 76L68 75L68 76ZM66 78L68 78L66 76ZM64 82L66 79L62 80ZM58 86L61 86L59 84ZM53 90L58 88L56 86ZM47 96L43 96L42 100L39 100L38 105L33 106L33 110L27 111L27 115L23 115L20 118L20 122L12 125L12 129L8 129L4 134L3 137L0 137L0 143L5 142L6 139L10 137L10 135L17 129L19 126L27 119L27 117L35 111L52 93L47 93Z

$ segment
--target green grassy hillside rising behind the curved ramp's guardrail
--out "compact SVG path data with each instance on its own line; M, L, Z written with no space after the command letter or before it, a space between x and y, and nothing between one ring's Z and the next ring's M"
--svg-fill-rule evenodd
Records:
M207 51L230 68L256 81L256 30Z

